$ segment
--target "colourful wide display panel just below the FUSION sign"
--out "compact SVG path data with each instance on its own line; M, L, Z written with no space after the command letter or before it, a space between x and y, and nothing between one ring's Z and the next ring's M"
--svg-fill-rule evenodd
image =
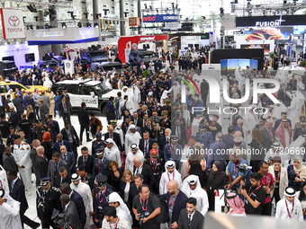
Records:
M293 40L293 27L249 28L244 40Z

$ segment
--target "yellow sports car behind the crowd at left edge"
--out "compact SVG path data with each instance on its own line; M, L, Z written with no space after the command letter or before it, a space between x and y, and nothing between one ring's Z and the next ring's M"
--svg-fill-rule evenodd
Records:
M48 88L45 86L37 85L37 86L24 86L23 84L19 84L14 81L0 81L0 93L1 95L5 95L8 92L12 93L13 99L14 99L14 92L15 89L18 88L19 91L23 92L23 95L25 94L25 91L34 92L35 88L38 88L39 91L47 91Z

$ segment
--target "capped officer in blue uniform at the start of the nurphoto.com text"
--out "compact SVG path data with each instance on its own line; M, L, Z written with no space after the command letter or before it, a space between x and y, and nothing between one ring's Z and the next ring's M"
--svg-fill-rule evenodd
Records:
M178 136L171 136L170 144L164 147L165 163L169 160L175 161L177 171L179 170L179 163L183 153L183 147L177 144L178 138Z

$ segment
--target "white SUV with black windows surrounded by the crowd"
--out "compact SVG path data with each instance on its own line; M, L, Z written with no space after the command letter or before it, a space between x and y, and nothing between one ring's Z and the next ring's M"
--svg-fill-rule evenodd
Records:
M86 103L86 109L99 110L106 113L106 103L110 97L117 97L120 90L109 89L100 81L86 80L64 80L52 86L53 92L67 90L70 97L72 109L81 108L81 103Z

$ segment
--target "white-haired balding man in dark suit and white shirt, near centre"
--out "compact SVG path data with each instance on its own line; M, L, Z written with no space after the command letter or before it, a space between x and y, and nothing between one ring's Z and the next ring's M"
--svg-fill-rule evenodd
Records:
M148 184L148 186L152 189L155 181L155 177L151 167L147 163L143 163L139 156L136 156L133 160L134 169L133 175L142 174L143 182Z

